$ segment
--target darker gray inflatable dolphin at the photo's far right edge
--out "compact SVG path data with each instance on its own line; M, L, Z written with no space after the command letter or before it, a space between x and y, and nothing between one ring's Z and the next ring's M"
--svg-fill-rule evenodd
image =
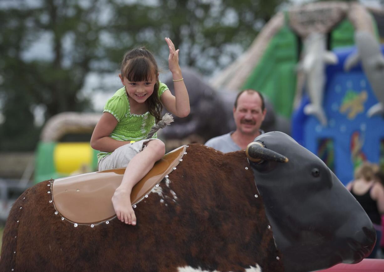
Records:
M355 43L357 52L352 53L344 62L344 70L349 71L361 61L362 69L372 91L376 95L379 103L373 105L367 111L367 116L372 117L376 114L384 114L384 56L381 53L380 44L374 36L366 31L355 32Z

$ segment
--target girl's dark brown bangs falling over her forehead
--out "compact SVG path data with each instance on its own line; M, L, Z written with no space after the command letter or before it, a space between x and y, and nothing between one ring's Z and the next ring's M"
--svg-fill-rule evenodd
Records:
M125 77L130 82L152 81L156 71L154 65L146 58L134 58L125 66Z

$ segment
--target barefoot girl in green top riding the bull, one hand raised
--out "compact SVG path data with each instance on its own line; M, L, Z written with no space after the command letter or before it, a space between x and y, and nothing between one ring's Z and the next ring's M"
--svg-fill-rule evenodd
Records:
M169 70L172 72L175 96L159 81L156 60L145 48L133 49L124 55L119 74L122 85L104 107L97 123L91 147L100 150L99 171L126 167L121 185L112 197L116 215L125 224L136 225L131 205L132 187L144 177L165 154L164 143L143 140L151 127L161 120L163 105L178 117L189 114L187 88L179 66L179 49L169 38Z

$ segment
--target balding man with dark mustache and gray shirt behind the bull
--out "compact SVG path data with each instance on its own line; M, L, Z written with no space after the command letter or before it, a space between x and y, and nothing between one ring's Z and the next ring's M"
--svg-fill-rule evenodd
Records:
M223 153L244 150L250 142L263 134L260 129L266 108L262 94L248 89L238 93L233 107L236 130L208 140L205 145Z

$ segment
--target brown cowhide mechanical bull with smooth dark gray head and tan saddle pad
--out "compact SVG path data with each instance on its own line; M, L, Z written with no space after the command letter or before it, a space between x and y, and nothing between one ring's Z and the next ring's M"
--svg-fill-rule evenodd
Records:
M68 214L77 200L60 207L66 198L58 191L70 191L60 180L26 190L7 220L0 270L304 272L356 263L371 252L376 234L361 206L288 135L265 133L246 151L227 154L184 148L144 197L131 195L136 226L113 214L96 222L112 205L113 190L103 194L101 185L96 200L107 204L98 206L89 189L91 197ZM86 175L70 179L74 195L92 187L81 187ZM90 214L96 217L85 219Z

